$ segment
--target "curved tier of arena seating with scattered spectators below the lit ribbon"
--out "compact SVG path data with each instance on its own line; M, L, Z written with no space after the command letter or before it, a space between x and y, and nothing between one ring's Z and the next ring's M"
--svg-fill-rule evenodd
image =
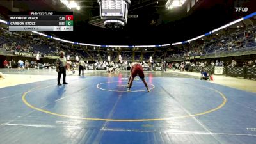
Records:
M21 51L21 52L33 52L35 54L49 54L51 56L58 56L58 52L65 51L70 56L81 56L82 58L89 59L88 53L82 49L72 49L70 45L58 42L48 42L47 40L40 40L40 38L22 38L23 36L19 33L4 33L0 35L0 45L7 51ZM222 35L216 39L205 40L204 44L198 44L196 41L172 46L166 51L166 49L157 49L153 51L143 51L142 60L148 61L149 57L153 56L153 60L174 60L182 59L185 60L189 56L220 56L226 54L227 56L233 56L233 53L242 52L243 54L249 54L250 51L255 51L256 47L256 27L251 27L243 31L235 31ZM35 40L37 39L37 40ZM38 41L39 40L39 41ZM52 43L52 44L51 44ZM108 56L111 56L111 60L118 60L118 51L100 51L88 50L89 54L94 60L108 61ZM132 51L125 50L120 51L122 60L132 60ZM232 55L233 54L233 55ZM141 49L135 51L134 60L141 60Z

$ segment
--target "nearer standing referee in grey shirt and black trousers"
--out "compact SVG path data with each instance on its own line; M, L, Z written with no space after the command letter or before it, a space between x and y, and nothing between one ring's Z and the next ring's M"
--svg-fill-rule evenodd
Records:
M66 83L66 64L67 60L64 57L65 52L61 51L60 52L60 57L56 61L56 71L58 72L58 86L61 86L60 84L60 77L61 74L63 74L63 84L68 84Z

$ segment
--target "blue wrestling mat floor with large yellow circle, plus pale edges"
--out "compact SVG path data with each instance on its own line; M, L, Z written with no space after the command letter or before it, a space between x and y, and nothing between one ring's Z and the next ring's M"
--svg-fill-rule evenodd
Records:
M256 143L256 93L197 76L145 72L151 92L135 79L128 93L127 72L70 73L65 86L54 70L1 72L1 144Z

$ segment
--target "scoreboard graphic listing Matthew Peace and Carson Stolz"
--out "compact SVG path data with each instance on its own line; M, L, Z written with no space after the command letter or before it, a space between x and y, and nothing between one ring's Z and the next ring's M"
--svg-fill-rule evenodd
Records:
M73 12L12 12L9 31L73 31Z

